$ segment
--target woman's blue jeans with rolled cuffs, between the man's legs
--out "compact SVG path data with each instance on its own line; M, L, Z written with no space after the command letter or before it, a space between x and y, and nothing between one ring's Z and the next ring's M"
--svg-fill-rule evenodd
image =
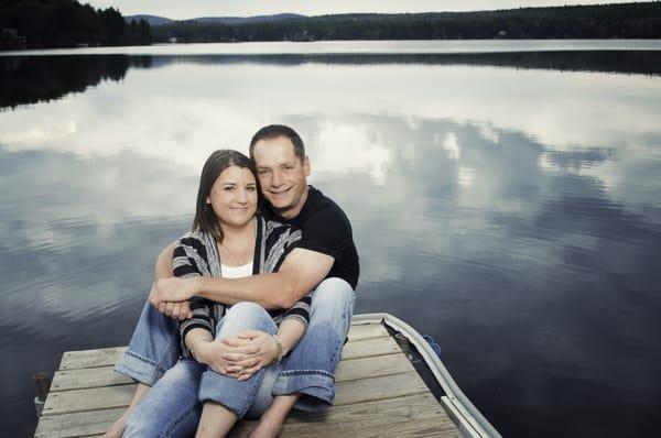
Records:
M273 333L278 327L259 305L239 303L220 320L216 337L236 336L246 330ZM271 388L279 368L271 364L239 382L195 360L181 359L163 373L129 415L123 437L193 436L207 401L224 405L239 418L259 418L273 401Z

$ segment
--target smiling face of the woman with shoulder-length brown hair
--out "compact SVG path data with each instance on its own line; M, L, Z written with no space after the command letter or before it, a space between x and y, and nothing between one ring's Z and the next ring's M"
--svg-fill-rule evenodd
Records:
M218 175L207 196L223 227L242 227L257 210L257 183L250 169L229 166Z

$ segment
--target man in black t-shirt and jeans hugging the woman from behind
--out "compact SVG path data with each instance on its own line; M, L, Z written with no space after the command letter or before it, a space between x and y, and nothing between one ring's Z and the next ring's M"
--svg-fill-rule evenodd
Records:
M292 251L277 273L245 278L176 278L172 277L170 247L156 262L156 283L150 302L163 314L182 319L189 316L187 302L194 296L228 305L248 300L266 308L289 308L314 289L307 330L284 359L283 372L273 386L275 398L256 430L257 436L275 436L294 405L313 410L333 403L334 372L350 325L359 265L346 215L307 185L310 160L294 130L278 124L260 129L250 142L250 157L270 204L264 216L300 228L300 248ZM228 348L234 348L232 358L250 363L251 353L257 350L250 342L228 340ZM131 370L145 369L144 359L128 353L117 369L131 375ZM162 366L154 370L150 369L149 379L134 377L144 385L138 390L131 407L164 371Z

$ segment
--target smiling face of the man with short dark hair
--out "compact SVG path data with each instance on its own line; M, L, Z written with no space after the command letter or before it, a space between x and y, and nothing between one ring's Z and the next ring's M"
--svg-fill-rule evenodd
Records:
M301 162L286 136L258 141L252 154L262 193L273 210L284 219L299 215L307 199L307 157Z

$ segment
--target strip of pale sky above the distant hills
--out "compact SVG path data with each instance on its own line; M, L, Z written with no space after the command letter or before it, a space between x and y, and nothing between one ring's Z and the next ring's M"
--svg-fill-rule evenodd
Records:
M347 12L444 12L563 4L631 3L631 0L80 0L95 8L113 7L122 15L151 14L174 20L197 17L251 17L282 12L323 15Z

